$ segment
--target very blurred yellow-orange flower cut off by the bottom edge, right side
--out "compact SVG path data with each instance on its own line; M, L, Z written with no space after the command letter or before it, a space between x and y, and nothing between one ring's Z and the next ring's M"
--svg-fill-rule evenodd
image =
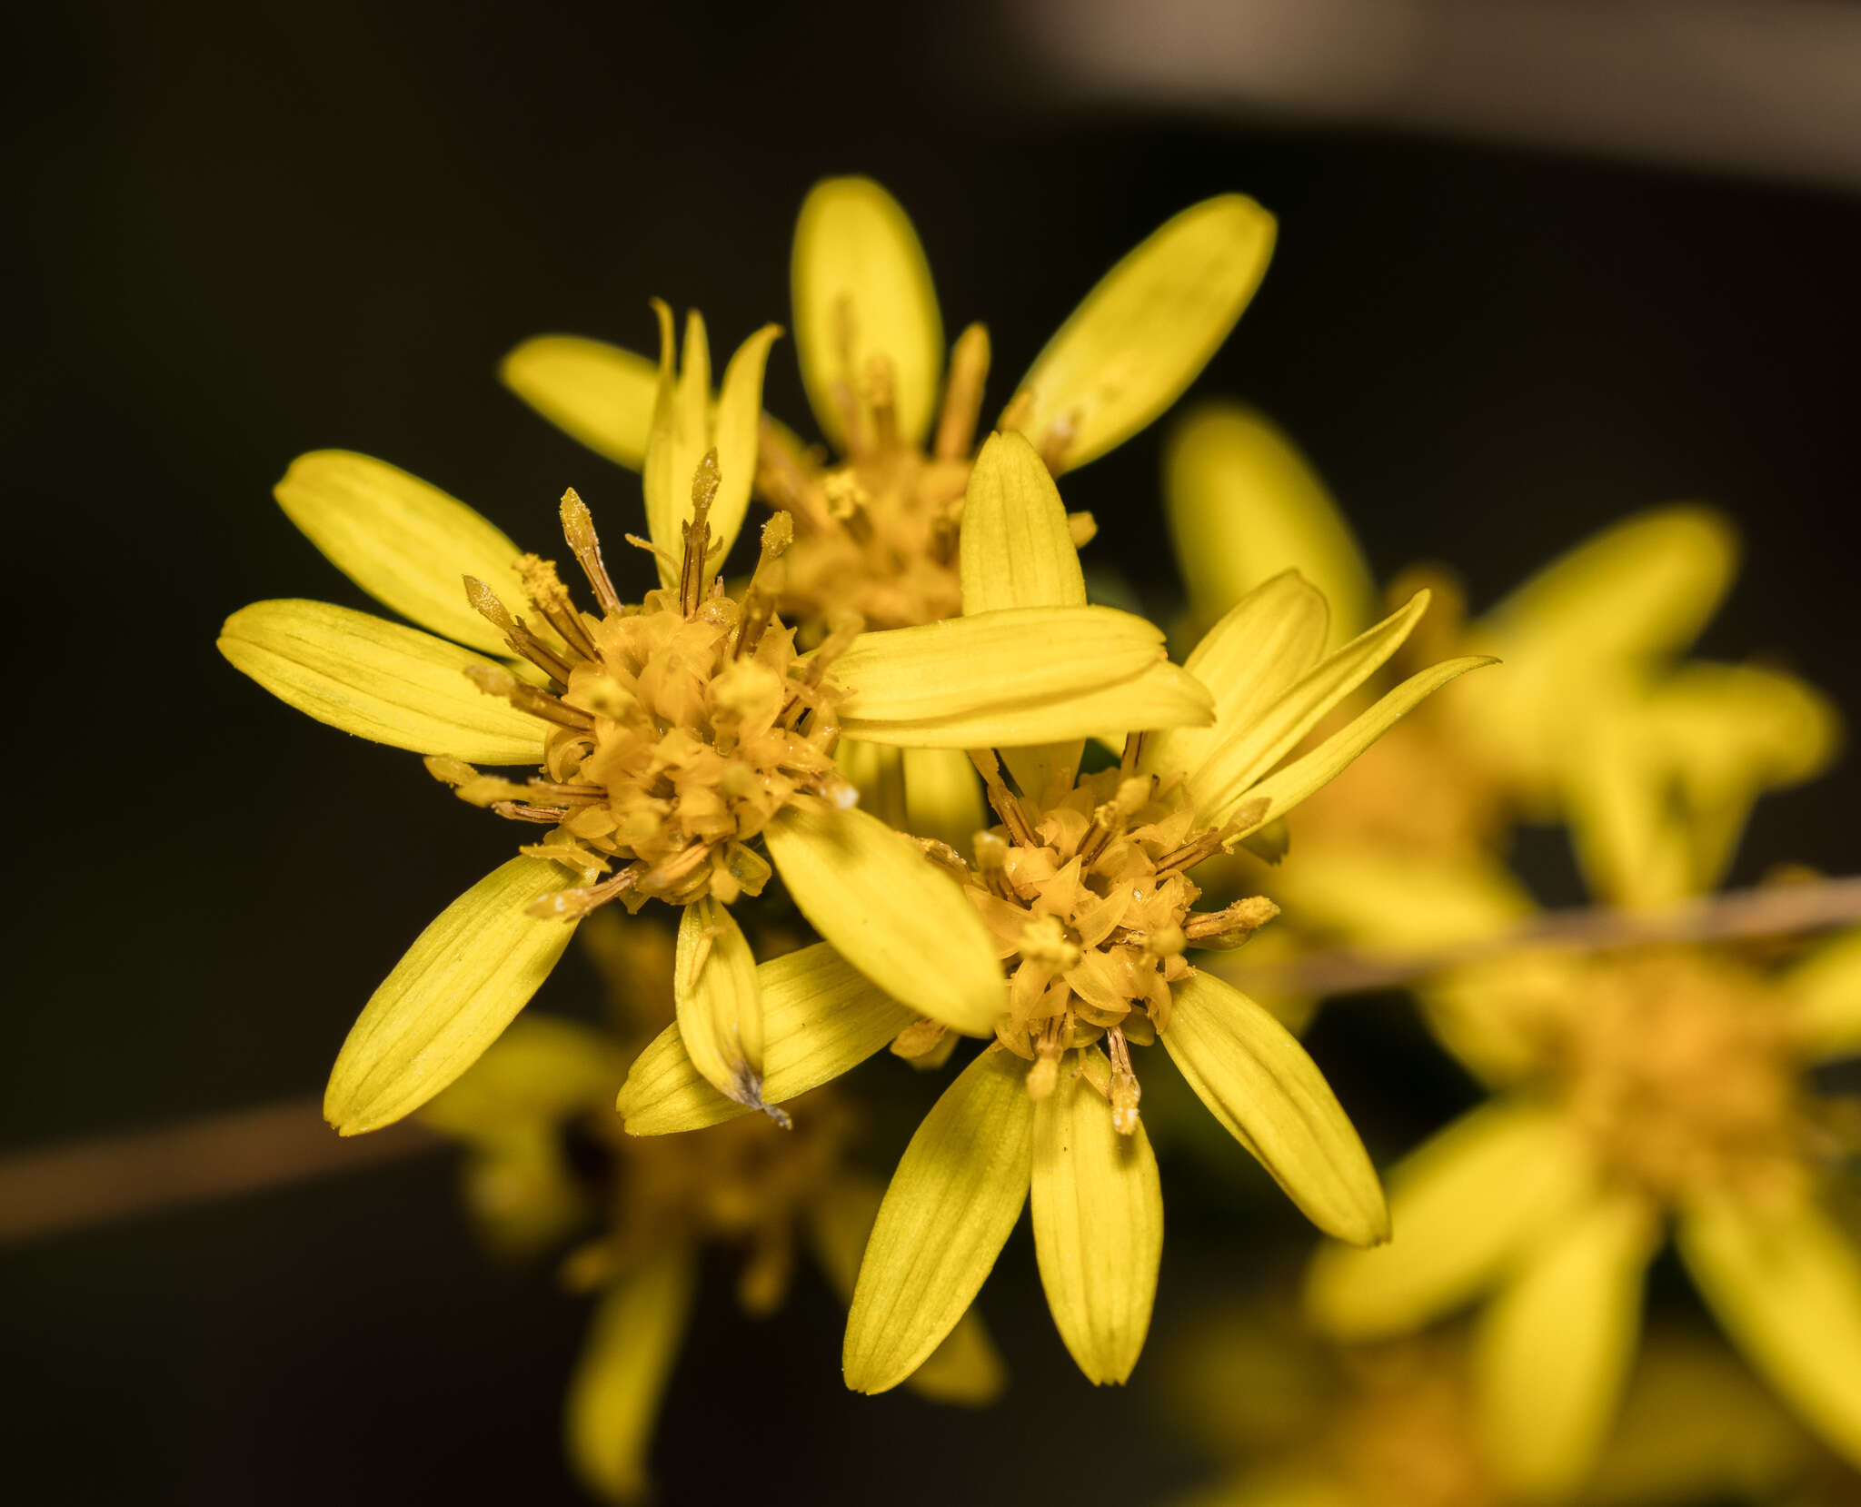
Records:
M1528 1507L1479 1427L1459 1330L1325 1345L1273 1312L1198 1314L1163 1356L1171 1418L1223 1468L1180 1507ZM1651 1336L1578 1501L1777 1500L1813 1451L1723 1349Z

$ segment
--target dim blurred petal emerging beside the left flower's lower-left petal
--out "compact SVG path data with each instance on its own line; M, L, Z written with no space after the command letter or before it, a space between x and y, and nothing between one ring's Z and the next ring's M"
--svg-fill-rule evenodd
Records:
M622 1077L625 1062L609 1036L573 1020L530 1014L512 1021L421 1120L463 1140L553 1127L605 1105Z

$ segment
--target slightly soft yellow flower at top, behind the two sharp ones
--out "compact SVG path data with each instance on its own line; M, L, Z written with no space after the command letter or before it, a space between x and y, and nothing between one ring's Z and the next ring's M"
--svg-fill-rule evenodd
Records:
M1124 443L1208 363L1252 298L1273 218L1228 193L1195 205L1087 294L1022 378L997 426L1025 433L1053 474ZM802 621L856 610L878 627L962 607L957 534L988 331L970 326L944 361L944 324L917 233L869 179L828 179L795 227L795 344L823 463L763 424L757 491L795 517L782 607ZM649 363L569 335L517 346L504 381L601 454L636 467L651 407ZM1091 517L1072 519L1074 538Z

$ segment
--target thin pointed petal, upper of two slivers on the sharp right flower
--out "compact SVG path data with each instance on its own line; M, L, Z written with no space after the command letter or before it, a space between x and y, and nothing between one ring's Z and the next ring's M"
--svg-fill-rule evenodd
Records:
M1325 713L1383 668L1426 610L1427 592L1416 592L1398 612L1321 659L1273 701L1252 711L1249 720L1234 720L1241 709L1236 705L1215 724L1202 763L1185 770L1197 806L1208 815L1219 811L1225 819L1249 794L1249 787L1284 759ZM1217 633L1221 627L1217 623ZM1288 655L1292 651L1292 647L1282 649ZM1252 709L1254 703L1249 698L1243 705Z

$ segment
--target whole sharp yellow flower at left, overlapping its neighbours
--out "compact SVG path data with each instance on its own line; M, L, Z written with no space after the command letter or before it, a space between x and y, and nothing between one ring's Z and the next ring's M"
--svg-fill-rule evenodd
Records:
M573 925L610 899L683 908L687 1046L724 1094L763 1107L763 1003L728 910L769 878L757 839L845 956L916 1010L986 1031L1001 1008L988 934L949 876L852 807L832 763L841 733L901 748L1079 737L1100 726L1107 696L1133 726L1210 716L1206 692L1167 664L1161 634L1100 607L873 634L837 620L798 653L770 584L791 538L785 515L765 527L741 597L716 577L748 510L776 331L743 344L713 404L703 324L689 320L679 368L663 305L659 318L644 456L651 538L636 541L659 586L638 605L622 601L573 491L562 528L594 612L553 564L382 461L318 452L277 487L335 566L445 638L270 601L227 620L221 653L322 722L424 754L467 802L543 828L450 904L368 1001L324 1105L342 1133L385 1126L456 1079L538 990ZM521 603L529 616L514 610Z

